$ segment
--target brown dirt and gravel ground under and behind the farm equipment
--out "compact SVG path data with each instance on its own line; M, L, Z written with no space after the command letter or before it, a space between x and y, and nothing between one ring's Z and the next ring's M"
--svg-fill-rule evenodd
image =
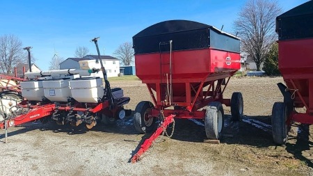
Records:
M230 120L224 106L225 137L218 144L203 143L203 122L175 120L172 138L158 138L138 163L131 155L151 134L138 134L132 118L116 125L57 126L38 122L9 129L9 143L0 143L3 175L313 175L313 129L294 125L287 145L278 146L271 136L271 109L282 101L275 78L234 78L225 98L241 92L244 118ZM131 97L126 109L151 101L141 81L111 82ZM298 135L297 135L298 134ZM0 136L4 141L4 135Z

